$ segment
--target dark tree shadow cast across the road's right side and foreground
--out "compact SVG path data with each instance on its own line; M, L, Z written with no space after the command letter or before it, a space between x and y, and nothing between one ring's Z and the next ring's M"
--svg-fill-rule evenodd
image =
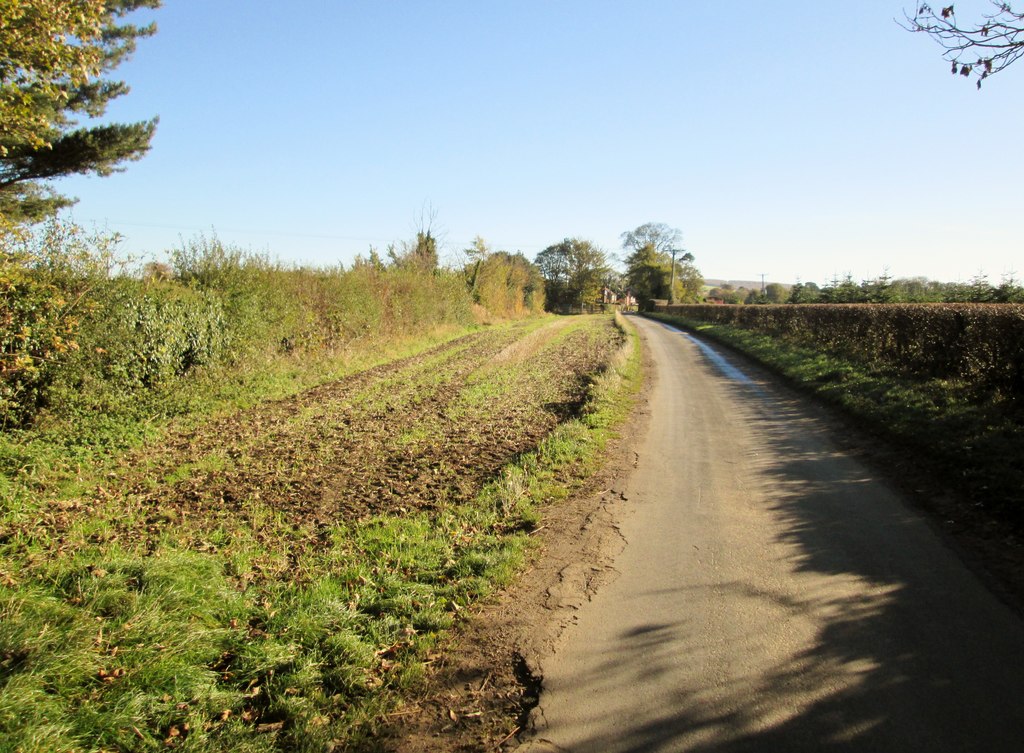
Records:
M652 599L710 590L712 603L738 597L754 613L778 616L776 635L791 620L807 625L804 618L816 631L766 668L742 654L774 640L772 631L740 628L726 645L725 636L698 629L699 618L641 622L600 649L595 670L573 678L575 698L610 689L624 697L625 710L613 733L595 731L573 750L1024 750L1020 620L979 587L927 522L837 451L829 427L800 401L765 381L723 388L750 406L737 421L771 450L749 459L763 480L752 504L768 505L778 521L777 546L766 556L780 558L775 570L808 587L710 580L636 592L627 608L642 615ZM664 689L667 673L725 652L738 655L714 684ZM663 689L650 697L644 688L655 679Z

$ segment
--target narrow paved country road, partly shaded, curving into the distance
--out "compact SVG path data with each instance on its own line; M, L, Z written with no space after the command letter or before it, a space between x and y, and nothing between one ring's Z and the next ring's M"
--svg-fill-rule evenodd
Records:
M526 749L1024 751L1024 622L799 400L633 321L627 544Z

